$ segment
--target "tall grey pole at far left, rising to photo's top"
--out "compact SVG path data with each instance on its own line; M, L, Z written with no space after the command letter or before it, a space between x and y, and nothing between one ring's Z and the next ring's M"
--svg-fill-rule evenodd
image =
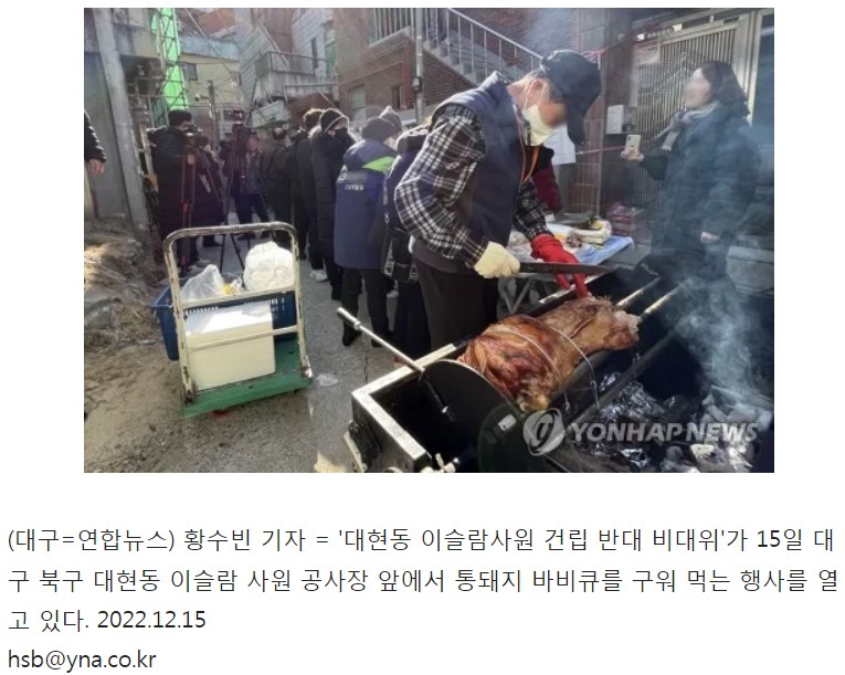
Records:
M149 222L144 187L141 184L138 158L135 151L131 115L129 114L129 95L126 91L126 77L117 52L112 10L108 8L94 9L94 25L97 31L99 57L103 61L103 72L108 88L108 101L112 107L112 119L117 136L117 150L120 158L120 173L126 190L126 201L129 218L138 230Z

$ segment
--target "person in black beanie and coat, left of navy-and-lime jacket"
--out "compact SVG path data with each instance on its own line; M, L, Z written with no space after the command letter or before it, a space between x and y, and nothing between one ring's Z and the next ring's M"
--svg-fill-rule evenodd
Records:
M344 166L344 154L352 145L349 118L329 108L310 131L314 181L317 188L318 247L331 284L331 299L339 300L342 271L335 264L335 188Z

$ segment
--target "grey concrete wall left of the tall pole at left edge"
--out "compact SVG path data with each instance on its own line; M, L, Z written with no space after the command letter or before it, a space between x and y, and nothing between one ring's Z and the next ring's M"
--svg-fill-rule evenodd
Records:
M85 53L85 109L106 151L106 171L91 179L96 210L99 215L128 213L126 189L123 182L117 137L112 122L112 108L99 54Z

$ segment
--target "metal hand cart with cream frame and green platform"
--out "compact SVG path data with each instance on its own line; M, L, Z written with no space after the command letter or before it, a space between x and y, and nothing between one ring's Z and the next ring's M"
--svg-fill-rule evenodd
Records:
M192 236L222 234L229 238L236 251L235 235L253 233L256 236L264 232L284 232L291 239L294 259L294 283L285 288L274 288L266 292L243 292L234 296L187 302L181 297L179 267L175 250L177 242ZM187 244L188 242L186 242ZM213 228L186 228L178 230L165 240L165 262L172 296L172 312L176 323L176 336L179 346L179 370L182 377L182 414L193 416L216 410L226 410L234 405L273 397L279 393L296 391L311 383L311 367L305 348L303 326L302 293L299 288L299 246L296 230L282 222L255 223L247 225L218 225ZM240 256L239 256L240 260ZM222 264L221 255L221 264ZM223 270L221 270L223 273ZM273 329L249 337L234 337L196 346L188 349L186 339L186 317L194 312L208 312L220 307L231 307L247 303L270 302L273 315ZM273 336L276 370L272 375L253 378L214 389L198 390L191 376L191 354L199 349L221 347L240 341L253 340Z

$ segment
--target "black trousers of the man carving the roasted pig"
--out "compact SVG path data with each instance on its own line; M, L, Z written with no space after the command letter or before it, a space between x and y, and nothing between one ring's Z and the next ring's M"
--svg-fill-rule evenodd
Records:
M496 321L497 280L477 274L450 274L415 259L432 349L475 337Z

